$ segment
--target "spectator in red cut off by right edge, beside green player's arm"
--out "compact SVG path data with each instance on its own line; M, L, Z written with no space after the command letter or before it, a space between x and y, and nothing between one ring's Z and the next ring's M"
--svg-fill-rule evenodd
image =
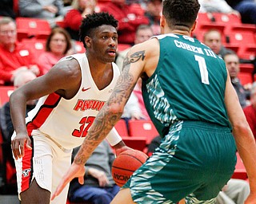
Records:
M251 131L254 133L256 139L256 82L252 84L250 89L250 105L243 109L246 115L246 120L250 125Z

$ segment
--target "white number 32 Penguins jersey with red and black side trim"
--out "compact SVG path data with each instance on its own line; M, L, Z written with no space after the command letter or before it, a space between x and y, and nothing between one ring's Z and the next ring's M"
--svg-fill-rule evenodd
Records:
M113 79L99 90L90 73L85 53L64 57L62 61L75 58L81 68L82 82L77 94L70 100L56 93L43 96L26 119L29 135L46 135L66 149L82 144L88 129L99 110L113 92L119 77L118 66L112 63Z

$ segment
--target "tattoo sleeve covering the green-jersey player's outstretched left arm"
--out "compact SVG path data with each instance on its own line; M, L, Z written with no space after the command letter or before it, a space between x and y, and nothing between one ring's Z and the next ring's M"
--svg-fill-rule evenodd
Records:
M126 56L123 62L122 74L118 78L114 92L95 118L94 124L90 127L86 139L74 158L74 163L86 163L94 149L106 138L106 135L114 127L114 124L118 122L122 116L122 108L119 105L122 104L124 106L124 102L128 100L135 86L134 77L129 73L130 64L139 60L144 61L144 59L145 50L133 53L130 57Z

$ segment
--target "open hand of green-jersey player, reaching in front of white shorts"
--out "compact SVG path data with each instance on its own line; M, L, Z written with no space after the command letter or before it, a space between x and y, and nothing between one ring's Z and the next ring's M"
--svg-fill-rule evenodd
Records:
M66 184L72 181L74 178L78 177L78 182L82 185L84 182L84 175L86 173L86 168L82 164L72 163L69 170L66 172L66 175L62 177L61 182L58 184L57 189L55 190L54 194L52 194L50 200L53 200L56 196L58 196Z

